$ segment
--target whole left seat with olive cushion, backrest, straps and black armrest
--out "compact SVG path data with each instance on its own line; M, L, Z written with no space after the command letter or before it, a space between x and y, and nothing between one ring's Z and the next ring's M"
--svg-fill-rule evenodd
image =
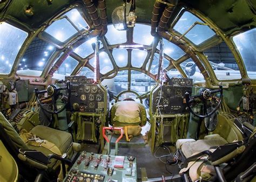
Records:
M22 130L18 134L2 113L0 113L0 130L1 140L16 162L18 161L19 169L26 176L25 178L35 177L31 171L25 171L28 166L36 171L58 175L59 171L62 171L60 167L65 167L60 163L71 165L70 159L80 151L80 144L72 143L70 133L44 125L37 125L29 132Z

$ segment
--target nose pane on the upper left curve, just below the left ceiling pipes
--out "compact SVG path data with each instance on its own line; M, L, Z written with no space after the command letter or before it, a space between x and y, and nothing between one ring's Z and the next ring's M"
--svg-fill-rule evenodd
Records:
M85 43L81 44L75 49L75 53L77 53L80 57L86 58L88 55L92 54L93 48L92 44L96 43L96 38L91 38L87 40ZM102 48L102 44L99 45L99 48Z

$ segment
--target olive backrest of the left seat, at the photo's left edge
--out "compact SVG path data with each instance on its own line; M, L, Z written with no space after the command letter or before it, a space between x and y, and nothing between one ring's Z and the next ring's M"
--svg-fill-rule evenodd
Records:
M19 137L17 131L14 129L14 127L12 127L10 122L6 120L2 113L0 113L0 124L2 124L6 134L18 149L28 149L26 144L22 141L21 137Z

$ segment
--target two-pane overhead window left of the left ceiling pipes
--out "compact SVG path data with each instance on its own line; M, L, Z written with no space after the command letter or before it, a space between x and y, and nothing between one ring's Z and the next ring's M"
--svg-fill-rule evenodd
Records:
M62 19L56 20L50 26L48 26L47 29L45 29L46 33L50 34L53 38L56 38L62 43L78 32L76 28L69 22L69 20L65 18L65 16L68 17L79 30L88 29L87 23L77 9L73 9L65 13L62 16Z

